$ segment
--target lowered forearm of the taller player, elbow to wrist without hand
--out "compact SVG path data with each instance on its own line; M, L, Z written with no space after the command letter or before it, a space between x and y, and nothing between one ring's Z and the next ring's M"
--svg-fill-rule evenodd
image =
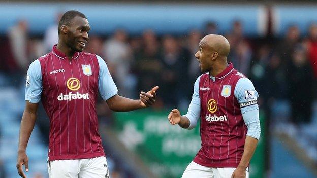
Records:
M25 151L26 146L31 135L31 132L34 128L35 121L37 118L36 112L31 111L24 111L21 126L20 126L20 133L19 133L19 145L18 151Z

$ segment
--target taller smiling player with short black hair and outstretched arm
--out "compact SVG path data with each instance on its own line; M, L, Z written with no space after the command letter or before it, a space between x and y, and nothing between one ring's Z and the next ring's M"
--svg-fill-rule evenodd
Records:
M21 120L17 169L26 177L26 146L37 118L38 103L50 119L48 170L50 178L109 177L98 132L98 92L113 111L132 111L155 102L158 87L141 92L139 100L119 96L105 61L82 52L90 26L86 16L68 11L58 24L58 44L30 64Z

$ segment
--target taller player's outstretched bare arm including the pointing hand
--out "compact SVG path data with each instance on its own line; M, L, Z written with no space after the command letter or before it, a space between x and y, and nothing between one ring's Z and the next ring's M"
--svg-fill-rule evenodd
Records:
M140 99L129 99L116 94L109 98L106 102L112 111L133 111L140 108L146 108L154 104L157 89L158 87L156 86L147 93L141 92Z

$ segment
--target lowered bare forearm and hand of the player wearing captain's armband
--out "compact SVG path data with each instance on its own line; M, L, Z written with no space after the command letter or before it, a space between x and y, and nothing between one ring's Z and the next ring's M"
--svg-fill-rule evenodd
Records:
M236 170L233 172L232 177L241 177L241 175L243 177L245 177L245 170L246 167L248 166L256 148L258 145L258 139L250 137L250 136L246 136L245 138L245 143L244 143L244 152L242 155L242 158L240 160L240 163L238 165L238 167L236 168Z

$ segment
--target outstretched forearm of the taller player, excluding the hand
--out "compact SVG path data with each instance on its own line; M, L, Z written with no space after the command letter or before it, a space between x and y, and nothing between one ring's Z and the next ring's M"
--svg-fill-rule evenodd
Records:
M114 96L107 100L107 104L112 111L133 111L142 108L140 99L130 99L122 96Z

